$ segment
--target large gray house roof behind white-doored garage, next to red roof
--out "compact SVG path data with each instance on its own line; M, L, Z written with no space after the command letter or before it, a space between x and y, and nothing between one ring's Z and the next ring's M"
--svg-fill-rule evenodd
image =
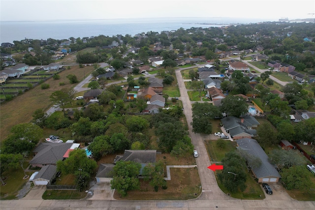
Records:
M64 153L70 149L72 143L39 143L33 150L38 152L30 164L56 164L58 160L63 159Z

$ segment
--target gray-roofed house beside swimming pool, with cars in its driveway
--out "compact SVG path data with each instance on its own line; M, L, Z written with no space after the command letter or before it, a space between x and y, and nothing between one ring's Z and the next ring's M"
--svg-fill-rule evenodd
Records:
M257 127L259 122L252 116L246 115L239 119L234 116L229 116L221 119L221 123L227 133L229 133L233 140L242 138L252 138L257 134L253 127Z

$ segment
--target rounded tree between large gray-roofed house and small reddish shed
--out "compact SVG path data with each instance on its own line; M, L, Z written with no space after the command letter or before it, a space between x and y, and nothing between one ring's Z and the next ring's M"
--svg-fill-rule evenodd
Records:
M278 133L269 122L262 123L258 126L257 135L258 142L262 143L264 148L279 143L279 140L277 139Z

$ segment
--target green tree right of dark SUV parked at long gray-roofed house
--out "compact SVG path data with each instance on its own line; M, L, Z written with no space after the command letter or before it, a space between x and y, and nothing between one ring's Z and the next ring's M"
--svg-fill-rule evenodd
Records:
M281 177L288 190L309 189L312 184L310 172L308 172L305 166L292 166L288 169L284 169L281 173Z

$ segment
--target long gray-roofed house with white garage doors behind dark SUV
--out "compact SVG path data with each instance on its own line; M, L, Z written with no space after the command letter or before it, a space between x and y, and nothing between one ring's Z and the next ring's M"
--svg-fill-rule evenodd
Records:
M268 161L268 156L254 139L244 138L236 140L237 149L244 150L260 159L259 166L251 166L252 173L258 182L278 182L281 178L276 168Z

